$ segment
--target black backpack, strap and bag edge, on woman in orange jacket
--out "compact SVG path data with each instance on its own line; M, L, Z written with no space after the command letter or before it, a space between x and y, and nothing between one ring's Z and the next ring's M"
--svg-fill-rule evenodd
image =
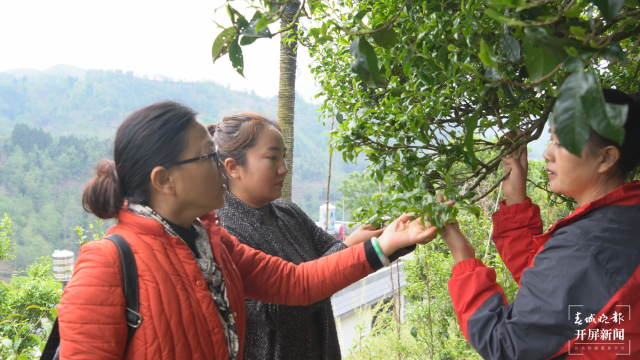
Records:
M117 234L111 234L105 237L105 239L111 240L118 249L120 254L120 262L122 263L122 289L124 291L124 298L126 300L125 316L127 319L128 334L127 345L125 346L125 353L129 342L133 337L133 333L142 323L142 315L140 315L140 301L138 299L138 268L136 267L136 259L133 257L133 251L127 240ZM40 360L57 360L60 356L60 331L58 329L58 319L53 322L51 328L51 334L47 339L47 344L42 350Z

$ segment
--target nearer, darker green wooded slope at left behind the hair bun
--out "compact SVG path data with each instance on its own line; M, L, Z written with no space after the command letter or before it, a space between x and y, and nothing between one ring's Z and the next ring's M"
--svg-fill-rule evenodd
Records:
M54 249L77 251L76 225L93 219L80 192L110 139L52 137L25 124L0 140L0 213L11 217L16 265L24 268Z

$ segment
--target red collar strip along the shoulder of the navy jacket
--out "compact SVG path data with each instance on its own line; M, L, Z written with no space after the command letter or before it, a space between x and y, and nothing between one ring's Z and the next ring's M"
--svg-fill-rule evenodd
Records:
M556 222L546 234L551 234L557 229L573 224L586 213L608 205L640 205L640 181L624 184L605 196L578 207L571 215Z

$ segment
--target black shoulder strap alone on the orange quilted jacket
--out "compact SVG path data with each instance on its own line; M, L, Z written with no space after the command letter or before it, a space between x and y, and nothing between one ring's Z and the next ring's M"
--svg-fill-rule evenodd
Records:
M138 269L136 267L136 259L133 257L131 246L129 246L127 240L122 236L111 234L107 235L105 239L111 240L120 253L120 262L122 263L122 288L124 290L124 298L127 302L128 346L133 337L133 333L142 323L142 316L139 313L140 301L138 299Z

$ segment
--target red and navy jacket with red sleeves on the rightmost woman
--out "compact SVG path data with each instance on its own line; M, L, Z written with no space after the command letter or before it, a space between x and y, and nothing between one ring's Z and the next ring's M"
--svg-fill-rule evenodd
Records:
M449 291L464 336L485 359L640 358L640 182L576 209L542 233L527 201L493 215L493 240L519 289L456 264Z

